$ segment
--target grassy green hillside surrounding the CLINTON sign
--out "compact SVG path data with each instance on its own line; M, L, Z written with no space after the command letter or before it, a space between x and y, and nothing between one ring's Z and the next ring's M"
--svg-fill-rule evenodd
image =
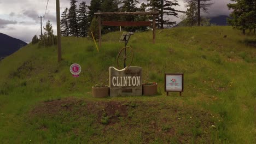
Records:
M123 43L103 36L100 52L87 38L56 47L27 45L0 63L1 143L255 143L255 35L231 27L135 33L133 64L158 82L155 97L96 99ZM224 38L224 35L226 37ZM82 66L75 79L72 63ZM164 73L184 73L184 93L164 92Z

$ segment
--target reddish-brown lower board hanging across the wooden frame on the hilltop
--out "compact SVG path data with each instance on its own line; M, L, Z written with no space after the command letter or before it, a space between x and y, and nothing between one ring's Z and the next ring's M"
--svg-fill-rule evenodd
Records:
M151 26L150 21L102 21L102 26Z

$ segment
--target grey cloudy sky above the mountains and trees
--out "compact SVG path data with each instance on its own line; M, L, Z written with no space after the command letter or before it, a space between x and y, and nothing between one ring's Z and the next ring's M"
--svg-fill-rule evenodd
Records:
M0 0L0 33L21 39L27 43L31 41L35 34L40 34L40 18L45 14L46 3L48 0ZM83 0L78 0L81 2ZM90 0L85 0L90 4ZM185 10L184 0L178 0L179 7L176 9ZM214 4L209 9L210 16L228 15L230 11L226 7L229 0L212 0ZM60 0L61 13L69 7L70 0ZM146 0L140 0L146 2ZM56 1L49 0L46 10L44 24L50 20L56 32ZM176 17L171 17L173 21L180 21Z

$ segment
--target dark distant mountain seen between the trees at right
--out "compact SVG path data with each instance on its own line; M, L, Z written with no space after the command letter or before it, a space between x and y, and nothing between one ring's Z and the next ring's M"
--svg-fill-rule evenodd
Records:
M228 23L226 22L226 19L229 18L231 19L231 17L227 16L227 15L219 15L219 16L215 16L215 17L207 17L208 19L210 19L210 23L217 25L217 26L228 26ZM174 27L179 27L182 26L182 21L179 22L177 25L175 25Z

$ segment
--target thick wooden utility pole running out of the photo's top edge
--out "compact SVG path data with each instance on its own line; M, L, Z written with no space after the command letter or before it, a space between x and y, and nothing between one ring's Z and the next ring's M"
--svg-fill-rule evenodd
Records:
M60 0L56 0L58 62L61 61Z

